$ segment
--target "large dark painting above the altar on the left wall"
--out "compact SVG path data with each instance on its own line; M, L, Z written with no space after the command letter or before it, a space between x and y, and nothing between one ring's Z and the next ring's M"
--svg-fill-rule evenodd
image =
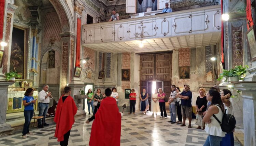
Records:
M25 73L26 66L26 30L13 26L10 71Z

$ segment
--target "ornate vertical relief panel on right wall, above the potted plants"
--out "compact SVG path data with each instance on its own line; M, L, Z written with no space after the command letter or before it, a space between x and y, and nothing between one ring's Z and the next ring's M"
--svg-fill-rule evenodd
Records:
M243 65L243 31L242 26L232 26L232 66Z

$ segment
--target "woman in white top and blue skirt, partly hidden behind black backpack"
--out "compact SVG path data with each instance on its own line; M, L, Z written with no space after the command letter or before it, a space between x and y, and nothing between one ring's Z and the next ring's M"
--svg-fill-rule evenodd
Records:
M230 102L231 95L231 91L228 89L223 89L221 92L221 99L222 102L224 103L225 110L227 110L226 114L232 114L233 111L232 103ZM233 131L226 134L226 136L221 141L221 146L234 146Z

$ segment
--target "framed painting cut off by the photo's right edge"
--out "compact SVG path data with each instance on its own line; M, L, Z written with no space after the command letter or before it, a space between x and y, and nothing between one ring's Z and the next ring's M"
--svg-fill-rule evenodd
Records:
M252 61L256 60L256 40L254 25L246 32L246 38L250 49Z

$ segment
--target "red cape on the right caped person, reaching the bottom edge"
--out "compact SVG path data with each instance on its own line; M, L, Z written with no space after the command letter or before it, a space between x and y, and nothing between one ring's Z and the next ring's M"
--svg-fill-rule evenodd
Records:
M95 114L89 146L120 146L121 114L115 98L106 97Z

